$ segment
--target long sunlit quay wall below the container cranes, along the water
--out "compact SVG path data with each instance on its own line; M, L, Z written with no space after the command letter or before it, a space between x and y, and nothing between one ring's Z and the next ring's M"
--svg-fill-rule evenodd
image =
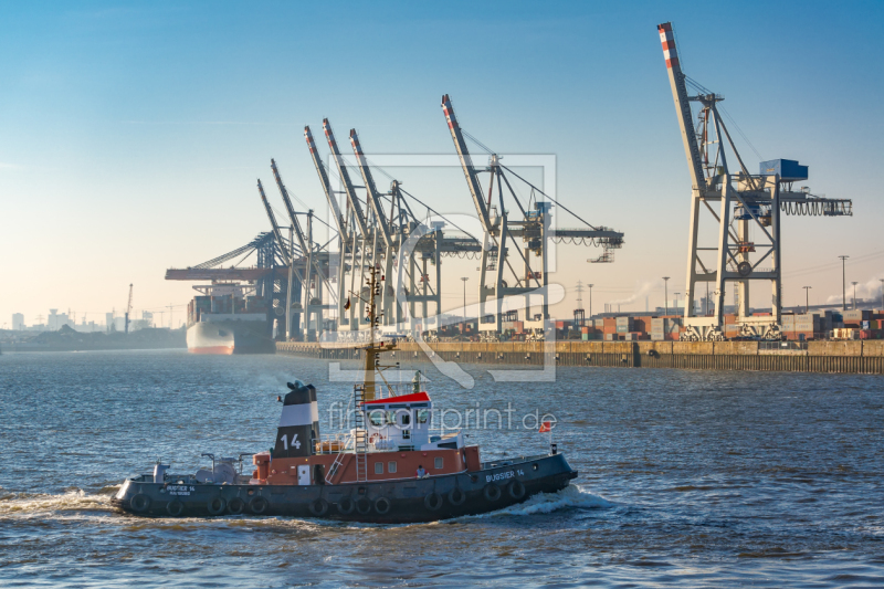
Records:
M687 368L699 370L768 370L797 372L884 374L884 340L808 341L806 350L764 349L758 341L543 341L425 344L430 355L446 361L543 366ZM329 360L359 359L352 344L280 341L278 354ZM392 361L424 361L417 343L401 343L385 355Z

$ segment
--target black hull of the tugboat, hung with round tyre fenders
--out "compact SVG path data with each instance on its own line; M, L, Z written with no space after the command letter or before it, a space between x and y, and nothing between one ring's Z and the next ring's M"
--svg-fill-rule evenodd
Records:
M154 517L272 515L375 524L436 522L478 515L555 493L577 477L565 456L546 454L485 463L474 472L346 484L214 485L168 475L128 478L113 503Z

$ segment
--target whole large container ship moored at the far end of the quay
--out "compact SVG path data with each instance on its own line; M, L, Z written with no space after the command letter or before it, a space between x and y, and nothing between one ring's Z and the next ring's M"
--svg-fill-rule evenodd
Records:
M245 296L236 283L196 286L188 304L187 349L191 354L274 354L266 303Z

